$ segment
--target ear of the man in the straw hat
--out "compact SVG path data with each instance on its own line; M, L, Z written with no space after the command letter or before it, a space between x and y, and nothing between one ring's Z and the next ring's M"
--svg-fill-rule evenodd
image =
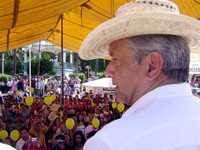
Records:
M164 60L160 53L152 52L145 57L146 76L150 80L156 79L162 72Z

